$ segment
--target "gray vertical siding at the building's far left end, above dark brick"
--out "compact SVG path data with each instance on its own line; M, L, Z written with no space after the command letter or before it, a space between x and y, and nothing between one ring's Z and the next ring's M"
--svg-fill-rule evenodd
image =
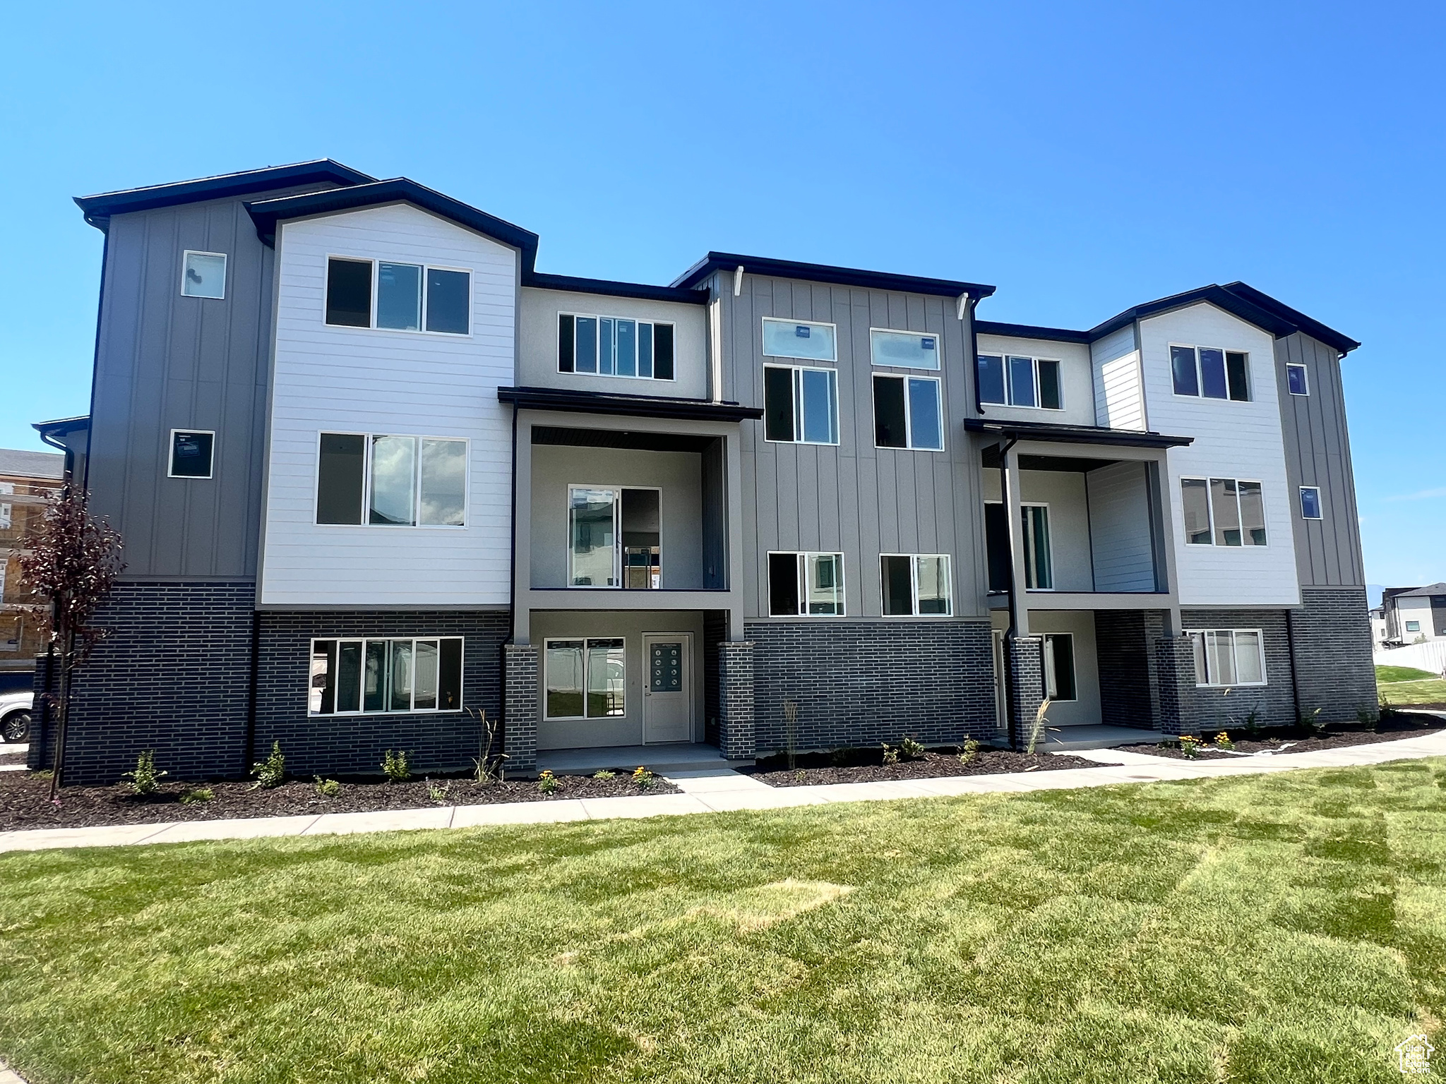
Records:
M246 202L311 184L110 218L87 486L127 580L256 575L273 267ZM187 250L226 253L226 296L181 295ZM172 429L215 432L211 478L172 478Z

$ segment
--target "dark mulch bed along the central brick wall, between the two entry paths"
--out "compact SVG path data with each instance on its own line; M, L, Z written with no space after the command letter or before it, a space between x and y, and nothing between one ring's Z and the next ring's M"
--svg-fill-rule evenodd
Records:
M920 760L884 763L882 749L839 749L831 753L798 753L794 769L785 754L765 757L739 772L769 786L817 786L820 783L872 783L886 779L938 779L949 775L1001 775L1004 772L1057 772L1063 767L1100 767L1095 760L1054 753L1014 753L980 747L964 765L957 749L931 749Z

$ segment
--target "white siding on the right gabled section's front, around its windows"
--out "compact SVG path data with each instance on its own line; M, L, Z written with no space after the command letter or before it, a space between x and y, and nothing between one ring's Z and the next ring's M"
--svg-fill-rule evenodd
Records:
M1183 606L1299 606L1294 494L1285 480L1285 445L1275 389L1274 340L1209 304L1139 322L1145 400L1158 432L1194 436L1168 452L1176 578ZM1170 344L1242 350L1249 356L1251 402L1180 396L1170 377ZM1181 477L1251 478L1265 496L1265 546L1184 543Z

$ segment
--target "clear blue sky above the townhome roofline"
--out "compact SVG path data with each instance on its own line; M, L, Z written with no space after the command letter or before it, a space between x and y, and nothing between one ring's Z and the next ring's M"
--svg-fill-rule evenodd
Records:
M331 156L668 282L709 249L1090 327L1244 279L1346 360L1372 582L1446 580L1439 3L23 4L0 72L0 445L88 409L72 195Z

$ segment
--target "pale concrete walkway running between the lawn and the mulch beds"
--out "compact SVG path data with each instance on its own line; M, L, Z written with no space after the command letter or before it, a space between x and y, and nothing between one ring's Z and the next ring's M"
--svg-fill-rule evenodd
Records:
M1173 760L1119 750L1079 750L1074 756L1100 762L1100 767L1011 775L943 776L875 783L827 786L769 786L727 767L671 772L665 778L683 793L636 798L561 798L495 805L444 805L427 809L321 814L315 817L254 817L227 821L172 824L121 824L104 828L35 828L0 833L0 851L54 847L117 847L139 843L191 840L249 840L268 835L343 835L348 833L406 831L415 828L473 828L490 824L547 824L603 821L619 817L665 817L781 809L791 805L870 802L894 798L941 798L964 793L1057 791L1076 786L1111 786L1173 779L1258 775L1301 767L1351 767L1388 760L1446 756L1446 731L1401 741L1327 749L1316 753L1231 757L1223 760Z

